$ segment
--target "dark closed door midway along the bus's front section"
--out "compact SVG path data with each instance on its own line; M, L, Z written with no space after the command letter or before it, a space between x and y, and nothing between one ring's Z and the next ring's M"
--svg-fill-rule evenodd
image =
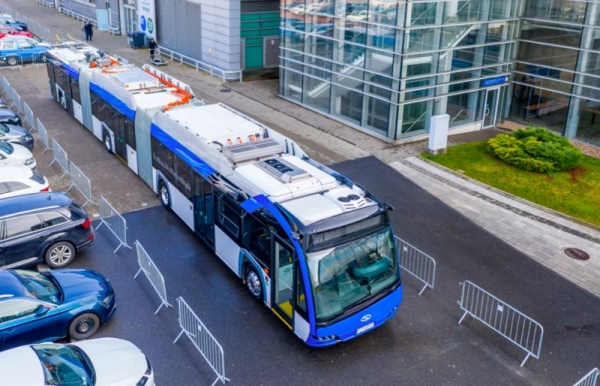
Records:
M211 249L215 246L215 216L213 186L204 177L194 171L194 231L208 244Z

